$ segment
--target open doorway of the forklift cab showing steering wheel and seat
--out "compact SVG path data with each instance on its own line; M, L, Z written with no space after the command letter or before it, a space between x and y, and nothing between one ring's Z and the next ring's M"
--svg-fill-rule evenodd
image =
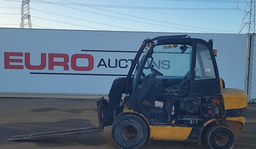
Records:
M155 76L152 84L152 90L156 90L155 95L163 96L165 93L188 96L192 43L157 45L153 48L152 58L153 61L151 58L147 60L148 66L143 69L142 76Z

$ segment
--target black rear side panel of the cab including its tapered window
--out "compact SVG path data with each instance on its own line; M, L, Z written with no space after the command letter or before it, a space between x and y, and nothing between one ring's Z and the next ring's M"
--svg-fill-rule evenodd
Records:
M221 95L218 67L212 47L207 42L197 42L193 59L192 98Z

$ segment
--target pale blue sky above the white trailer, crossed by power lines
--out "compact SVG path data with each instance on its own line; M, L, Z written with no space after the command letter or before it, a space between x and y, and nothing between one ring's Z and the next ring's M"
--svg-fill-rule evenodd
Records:
M30 16L32 28L238 33L243 17L244 0L238 3L241 10L184 9L237 7L237 3L230 3L235 0L206 1L208 0L31 0ZM218 1L222 3L216 3ZM223 3L224 1L228 3ZM47 2L54 4L46 4ZM60 5L64 3L72 5ZM22 0L0 0L0 27L20 27L21 4ZM168 7L178 10L109 8L95 5ZM241 33L246 33L246 29Z

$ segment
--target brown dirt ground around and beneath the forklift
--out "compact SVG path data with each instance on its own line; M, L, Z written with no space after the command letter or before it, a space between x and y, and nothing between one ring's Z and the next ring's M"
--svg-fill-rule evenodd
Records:
M236 138L235 149L256 148L256 104L249 104L247 119ZM54 98L0 98L1 149L117 149L111 138L111 126L100 135L73 135L37 141L6 141L13 135L98 126L96 100ZM208 148L196 143L174 141L146 142L142 149Z

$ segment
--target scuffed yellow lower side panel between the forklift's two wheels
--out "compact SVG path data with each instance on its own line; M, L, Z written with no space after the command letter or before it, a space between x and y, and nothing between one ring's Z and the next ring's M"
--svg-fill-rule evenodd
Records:
M149 125L152 140L186 140L192 127L155 126Z

